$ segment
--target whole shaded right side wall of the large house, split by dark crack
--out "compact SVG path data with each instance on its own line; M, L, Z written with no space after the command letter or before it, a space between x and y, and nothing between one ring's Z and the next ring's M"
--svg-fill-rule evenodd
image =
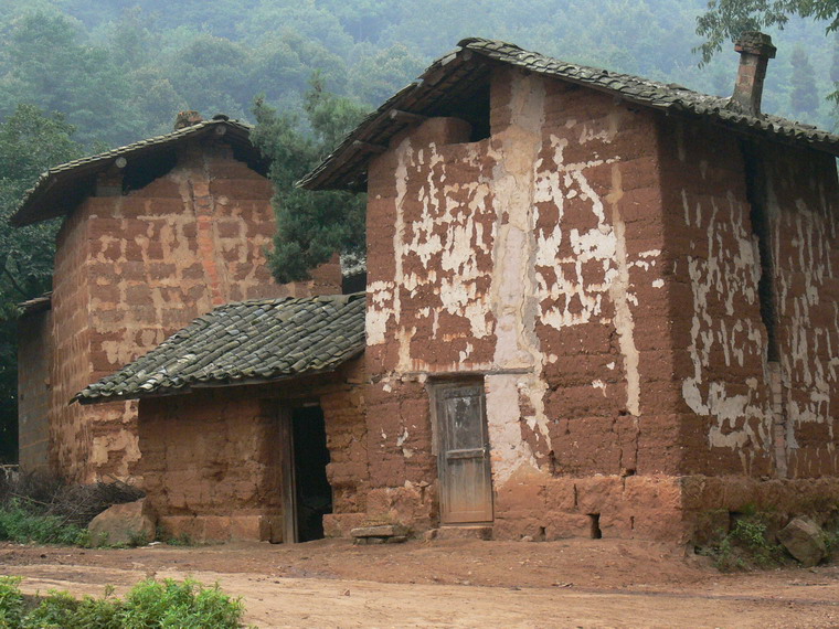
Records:
M772 256L772 269L762 269L737 140L676 122L662 125L661 137L683 403L680 470L793 479L836 475L833 159L755 146ZM768 361L761 316L763 273L772 276L774 290L777 367ZM780 380L775 405L773 369Z

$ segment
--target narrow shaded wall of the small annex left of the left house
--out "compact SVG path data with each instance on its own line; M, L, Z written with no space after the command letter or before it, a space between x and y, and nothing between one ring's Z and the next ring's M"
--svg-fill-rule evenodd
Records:
M18 463L24 472L50 468L52 312L24 313L18 322Z

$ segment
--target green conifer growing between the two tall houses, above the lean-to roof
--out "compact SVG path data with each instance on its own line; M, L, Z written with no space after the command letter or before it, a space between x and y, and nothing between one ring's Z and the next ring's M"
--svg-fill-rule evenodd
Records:
M277 281L309 277L336 253L363 255L365 200L349 192L308 192L295 186L363 117L355 103L336 97L315 78L306 95L310 132L300 120L264 100L254 107L254 143L270 158L277 234L269 263Z

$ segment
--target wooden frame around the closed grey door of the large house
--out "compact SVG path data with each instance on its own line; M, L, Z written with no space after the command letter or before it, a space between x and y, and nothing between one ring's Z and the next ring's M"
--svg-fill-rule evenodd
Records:
M489 484L489 513L490 518L489 520L476 520L474 522L446 522L444 520L444 505L445 505L445 498L444 498L444 483L445 483L445 465L444 465L444 456L445 452L443 451L445 439L443 438L443 430L442 430L442 418L439 417L439 413L437 412L438 408L438 399L439 394L443 391L450 390L450 388L457 388L461 386L480 386L482 390L482 404L481 404L481 431L484 437L484 448L486 450L486 475L487 475L487 481ZM453 376L453 377L440 377L435 379L433 381L429 381L426 385L426 388L428 391L428 399L431 403L431 419L432 419L432 449L437 458L437 482L439 483L439 488L437 491L437 501L438 501L438 513L439 513L439 523L440 525L447 525L447 526L459 526L459 525L472 525L472 524L491 524L495 521L495 483L492 482L492 465L490 460L490 443L489 443L489 425L487 422L487 394L486 394L486 384L484 376L480 374L477 375L469 375L464 374L459 376Z

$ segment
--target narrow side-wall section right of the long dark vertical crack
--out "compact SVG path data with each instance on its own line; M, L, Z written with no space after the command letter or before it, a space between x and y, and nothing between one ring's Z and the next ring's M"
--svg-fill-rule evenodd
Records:
M762 147L789 478L839 475L839 186L832 157Z

